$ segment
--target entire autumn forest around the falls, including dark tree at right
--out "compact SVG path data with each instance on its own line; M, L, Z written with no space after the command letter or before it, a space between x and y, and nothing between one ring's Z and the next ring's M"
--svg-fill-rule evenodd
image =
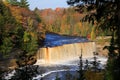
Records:
M79 1L84 5L78 5ZM120 1L67 0L67 3L69 8L32 11L27 0L0 0L1 80L4 72L36 62L35 54L48 32L87 37L91 41L98 36L112 36L102 76L91 70L85 75L102 77L94 80L120 80Z

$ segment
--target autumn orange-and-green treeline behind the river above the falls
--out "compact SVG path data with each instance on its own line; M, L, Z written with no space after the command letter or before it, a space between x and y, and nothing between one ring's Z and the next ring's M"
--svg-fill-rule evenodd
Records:
M95 22L82 21L82 18L87 14L84 10L84 13L79 13L75 11L73 7L71 8L56 8L34 10L42 20L42 24L46 31L55 32L65 35L76 35L76 36L89 36L94 38L101 35L109 35L108 30L102 31L99 29Z

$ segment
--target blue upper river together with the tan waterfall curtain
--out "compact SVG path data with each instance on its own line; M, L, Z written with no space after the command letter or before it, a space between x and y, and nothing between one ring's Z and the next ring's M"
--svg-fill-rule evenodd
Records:
M44 47L37 52L37 59L45 63L55 63L78 58L81 53L83 58L93 57L96 51L95 42L83 37L61 36L46 34Z

